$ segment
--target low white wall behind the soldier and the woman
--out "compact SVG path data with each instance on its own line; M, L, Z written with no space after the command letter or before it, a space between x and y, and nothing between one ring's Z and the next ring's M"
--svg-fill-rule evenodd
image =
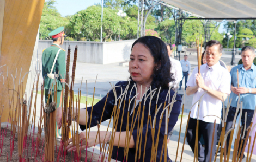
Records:
M75 46L77 50L77 62L109 64L129 60L131 46L135 40L115 42L88 42L88 41L65 41L61 48L68 51L71 48L70 61L73 61ZM38 53L41 60L42 50L50 47L52 40L39 40Z

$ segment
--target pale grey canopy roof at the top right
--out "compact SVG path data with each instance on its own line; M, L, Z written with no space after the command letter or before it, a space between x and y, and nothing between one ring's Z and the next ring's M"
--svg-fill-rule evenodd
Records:
M162 0L205 18L255 18L255 0Z

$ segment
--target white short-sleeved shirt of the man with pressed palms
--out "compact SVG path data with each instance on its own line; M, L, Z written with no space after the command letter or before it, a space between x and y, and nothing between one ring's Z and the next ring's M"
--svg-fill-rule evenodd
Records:
M187 81L187 86L196 86L197 73L198 67L194 68L190 79ZM230 93L231 76L228 70L221 66L220 62L217 62L214 66L211 67L209 67L207 63L203 64L200 68L200 73L204 79L205 86L211 88L212 90L220 91L222 93ZM194 93L192 105L194 102L200 99L204 92L205 90L199 88L197 92ZM191 118L197 119L197 108L198 103L196 103L191 109ZM203 116L216 115L221 118L221 109L222 101L206 93L203 96L199 109L199 120L213 123L216 119L216 123L220 124L221 120L216 118L215 116L207 116L205 118L203 118Z

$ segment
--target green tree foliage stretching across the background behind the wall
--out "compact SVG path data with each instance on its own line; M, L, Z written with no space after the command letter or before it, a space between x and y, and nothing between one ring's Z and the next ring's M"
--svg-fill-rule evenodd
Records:
M68 40L100 41L101 4L95 4L71 16L62 17L54 7L55 3L55 0L45 2L40 22L41 39L48 39L48 33L60 26L64 26ZM145 3L145 8L148 9L149 4L153 3L155 3L154 0L148 0ZM137 38L138 1L104 0L103 4L103 41L113 41L115 38L118 40ZM123 10L127 16L118 16L117 12L119 10ZM144 11L144 16L147 12L148 10ZM172 13L175 14L174 9L167 8L162 4L155 5L147 18L145 29L152 33L157 33L157 36L160 36L164 42L175 43L176 25ZM141 24L141 21L139 21L139 24ZM253 28L255 28L256 23L251 22L251 25L254 25ZM227 24L227 27L230 28L230 31L233 29L231 24ZM252 30L253 35L255 35L256 30L252 29L251 26L247 25L246 28ZM211 33L211 39L223 42L223 34L218 33L218 28L214 31L211 28ZM202 22L200 20L186 20L182 27L181 44L193 47L196 37L204 37ZM248 41L247 43L249 42L253 41Z

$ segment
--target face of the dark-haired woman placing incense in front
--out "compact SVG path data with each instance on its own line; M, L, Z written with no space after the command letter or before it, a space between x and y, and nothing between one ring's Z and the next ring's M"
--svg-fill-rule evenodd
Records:
M151 75L155 66L154 57L148 48L141 43L136 43L132 48L129 62L132 80L140 85L150 84L153 80Z

